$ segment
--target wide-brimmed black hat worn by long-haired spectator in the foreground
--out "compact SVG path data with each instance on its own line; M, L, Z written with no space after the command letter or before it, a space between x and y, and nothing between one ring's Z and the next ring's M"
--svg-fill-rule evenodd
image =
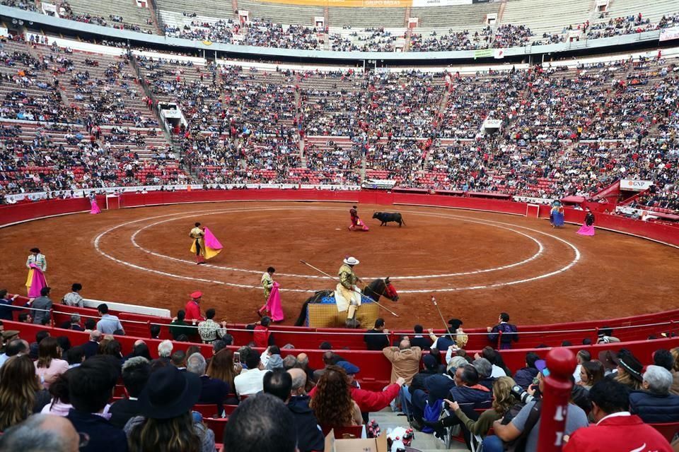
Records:
M200 377L182 372L174 366L154 371L139 394L141 415L153 419L170 419L188 412L200 398Z

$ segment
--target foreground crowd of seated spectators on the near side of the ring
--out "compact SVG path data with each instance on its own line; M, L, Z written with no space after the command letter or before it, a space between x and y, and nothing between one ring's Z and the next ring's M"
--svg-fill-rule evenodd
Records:
M34 343L21 338L21 331L1 328L0 451L38 444L64 452L151 447L214 452L219 443L225 452L254 452L272 447L272 438L277 446L267 450L318 451L330 429L368 424L371 412L389 408L424 434L444 438L458 425L468 445L474 434L484 450L501 451L516 440L527 452L538 450L538 407L550 369L532 351L525 367L504 363L504 352L521 343L509 314L501 313L487 328L489 345L473 355L465 350L469 335L460 319L448 321L443 335L416 325L412 333L397 335L394 345L385 321L377 319L363 340L367 350L385 357L390 379L372 391L359 384L371 376L332 344L320 344L323 364L314 369L293 344L277 344L268 317L245 327L253 331L249 343L234 343L226 323L214 321L214 309L202 316L199 301L190 301L173 319L170 333L177 343L153 341L157 353L144 338L124 350L119 339L125 331L106 304L98 307L98 322L86 321L83 343L56 336L59 328L41 329ZM13 310L3 304L2 319L12 319ZM62 327L83 331L80 317L74 317ZM191 340L211 346L197 347ZM619 342L610 328L600 330L597 343ZM670 452L667 439L649 424L679 422L679 348L661 348L649 357L625 348L593 356L591 343L586 338L577 352L564 450L589 450L596 429L622 422L620 441L626 446L637 441ZM644 368L642 362L652 364ZM597 424L590 427L590 421ZM373 431L368 428L368 434ZM64 446L71 443L78 447Z

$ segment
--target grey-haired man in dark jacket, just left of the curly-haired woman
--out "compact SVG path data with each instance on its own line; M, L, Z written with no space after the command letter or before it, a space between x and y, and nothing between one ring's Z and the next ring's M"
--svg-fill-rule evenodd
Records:
M299 452L322 451L325 447L325 438L318 420L309 408L309 396L306 395L306 372L303 369L289 369L288 374L292 377L290 398L287 400L289 410L295 419L297 429L297 448Z

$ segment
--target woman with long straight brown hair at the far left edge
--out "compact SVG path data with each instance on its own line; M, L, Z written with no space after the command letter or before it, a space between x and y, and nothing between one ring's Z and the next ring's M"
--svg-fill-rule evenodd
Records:
M33 361L13 356L0 368L0 432L25 420L50 403L50 393L40 388Z

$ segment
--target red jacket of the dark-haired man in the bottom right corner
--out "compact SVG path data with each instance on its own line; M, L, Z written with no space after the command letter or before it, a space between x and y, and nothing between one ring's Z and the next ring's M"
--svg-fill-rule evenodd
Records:
M615 416L577 429L564 452L672 452L665 437L639 416Z

